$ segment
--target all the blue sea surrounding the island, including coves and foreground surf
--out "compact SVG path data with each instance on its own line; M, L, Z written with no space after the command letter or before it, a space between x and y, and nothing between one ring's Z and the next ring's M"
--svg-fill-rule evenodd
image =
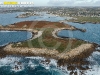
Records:
M59 22L68 19L68 17L59 17L46 14L45 12L39 13L39 16L16 18L16 16L22 13L24 12L0 13L0 25L7 26L21 21ZM76 28L86 29L86 32L79 30L62 30L57 33L59 37L76 38L100 45L100 24L80 24L67 21L64 21L64 23L75 26ZM5 46L12 42L25 41L31 37L32 33L27 31L0 31L0 46ZM0 75L100 75L99 50L100 47L97 47L95 51L85 59L90 64L81 65L82 68L88 67L88 69L84 70L77 67L75 67L74 70L69 70L67 64L59 66L58 61L52 58L7 55L6 57L0 58Z

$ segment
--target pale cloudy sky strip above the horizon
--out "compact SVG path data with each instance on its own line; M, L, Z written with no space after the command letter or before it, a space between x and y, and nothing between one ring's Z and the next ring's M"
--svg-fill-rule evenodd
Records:
M100 0L0 0L34 2L34 6L100 6Z

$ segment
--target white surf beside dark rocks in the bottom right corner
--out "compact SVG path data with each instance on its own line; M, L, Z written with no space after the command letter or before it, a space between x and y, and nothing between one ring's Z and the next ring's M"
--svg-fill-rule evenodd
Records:
M92 64L88 65L90 69L84 71L84 74L86 74L86 75L100 75L100 65L98 63L98 61L100 60L99 57L100 57L100 52L95 51L91 54L91 56L89 56L87 58L87 60ZM95 58L97 58L98 61L96 61Z

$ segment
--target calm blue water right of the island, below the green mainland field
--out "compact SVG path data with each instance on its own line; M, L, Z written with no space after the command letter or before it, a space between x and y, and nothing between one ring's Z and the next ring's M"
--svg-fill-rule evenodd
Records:
M86 29L86 32L81 32L79 30L76 31L62 30L58 33L58 36L77 38L92 43L100 44L100 24L92 24L92 23L79 24L71 22L68 22L67 24L75 26L77 28Z

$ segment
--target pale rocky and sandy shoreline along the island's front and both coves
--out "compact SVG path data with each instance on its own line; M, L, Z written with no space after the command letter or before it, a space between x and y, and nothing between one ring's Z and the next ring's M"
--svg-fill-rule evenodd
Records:
M52 35L55 38L60 38L56 35L56 33L60 30L76 30L74 27L65 27L65 28L55 28L52 32ZM28 28L3 28L1 27L0 30L18 30L18 31L30 31L32 33L37 34L37 36L33 36L31 39L38 38L42 35L42 32L35 31L33 29ZM39 34L40 33L40 34ZM38 35L39 34L39 35ZM60 38L61 39L61 38ZM0 55L25 55L25 56L42 56L42 57L49 57L57 59L60 63L74 63L74 62L81 62L82 59L88 57L97 47L94 43L86 43L78 46L75 49L68 51L64 51L62 53L58 52L57 50L48 50L45 48L27 48L27 47L12 47L12 44L6 45L0 48Z

